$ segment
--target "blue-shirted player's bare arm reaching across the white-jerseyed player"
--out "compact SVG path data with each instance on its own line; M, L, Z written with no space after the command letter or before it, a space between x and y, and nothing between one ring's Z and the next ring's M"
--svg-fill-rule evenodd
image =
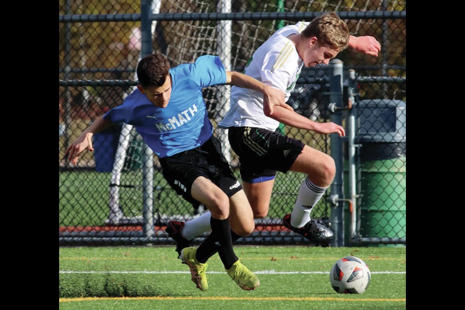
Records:
M263 93L263 111L266 116L273 114L274 106L279 106L291 111L293 110L291 106L285 102L284 93L282 91L266 85L255 78L235 71L226 71L226 83Z

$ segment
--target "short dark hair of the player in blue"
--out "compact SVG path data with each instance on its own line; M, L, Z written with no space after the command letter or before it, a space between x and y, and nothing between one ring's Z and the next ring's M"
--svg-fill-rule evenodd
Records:
M137 65L136 72L143 88L160 87L165 84L170 72L170 62L163 55L155 53L144 57Z

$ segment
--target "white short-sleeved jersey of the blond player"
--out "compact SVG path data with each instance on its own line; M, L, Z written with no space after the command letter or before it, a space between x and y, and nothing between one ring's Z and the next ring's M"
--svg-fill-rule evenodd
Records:
M273 33L253 53L243 73L283 91L287 101L304 64L294 43L287 37L300 33L308 24L308 22L298 22ZM262 93L233 86L231 109L218 126L221 128L248 126L274 131L278 128L279 122L263 113Z

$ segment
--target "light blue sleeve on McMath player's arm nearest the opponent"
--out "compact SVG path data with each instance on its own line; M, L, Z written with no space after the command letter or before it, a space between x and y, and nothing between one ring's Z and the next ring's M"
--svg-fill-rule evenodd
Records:
M205 55L197 58L192 73L200 87L226 83L226 71L217 56Z

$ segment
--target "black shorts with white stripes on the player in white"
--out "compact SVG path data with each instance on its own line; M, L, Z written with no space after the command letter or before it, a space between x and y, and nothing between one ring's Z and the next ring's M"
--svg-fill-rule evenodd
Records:
M229 143L239 156L241 177L257 183L274 177L276 171L286 173L302 152L304 143L278 132L255 127L229 127ZM268 178L269 179L269 178Z

